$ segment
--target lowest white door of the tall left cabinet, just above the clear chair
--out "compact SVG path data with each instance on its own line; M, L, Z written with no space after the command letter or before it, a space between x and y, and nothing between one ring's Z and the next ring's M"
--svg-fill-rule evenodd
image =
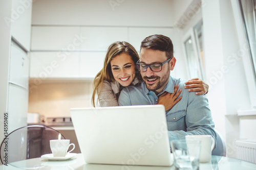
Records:
M8 120L9 133L27 125L28 90L9 84L8 94Z

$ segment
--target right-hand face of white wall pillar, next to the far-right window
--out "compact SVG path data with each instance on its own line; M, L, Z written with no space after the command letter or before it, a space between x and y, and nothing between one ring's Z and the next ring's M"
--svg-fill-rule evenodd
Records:
M248 88L246 83L245 70L240 54L238 32L234 22L231 1L220 1L221 32L223 42L223 66L227 67L225 76L226 114L236 114L237 110L250 108ZM234 91L239 91L234 95ZM241 101L241 99L243 99ZM234 104L236 106L234 106Z

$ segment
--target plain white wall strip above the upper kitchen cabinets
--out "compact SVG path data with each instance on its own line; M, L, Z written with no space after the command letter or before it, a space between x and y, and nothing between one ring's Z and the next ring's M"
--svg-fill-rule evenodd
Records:
M37 0L32 25L170 27L171 4L169 0Z

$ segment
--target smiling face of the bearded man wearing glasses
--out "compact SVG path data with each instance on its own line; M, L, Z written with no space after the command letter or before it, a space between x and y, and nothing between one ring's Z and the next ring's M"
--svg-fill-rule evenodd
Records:
M163 63L167 59L165 52L159 50L142 48L140 51L140 63L143 64ZM168 83L170 70L174 69L175 62L176 59L173 57L162 65L162 70L159 72L153 72L150 68L147 68L145 72L140 72L147 89L159 94Z

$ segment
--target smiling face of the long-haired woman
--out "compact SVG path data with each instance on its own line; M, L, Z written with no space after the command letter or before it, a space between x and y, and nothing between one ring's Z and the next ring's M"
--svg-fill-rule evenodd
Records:
M130 55L121 53L110 62L114 79L122 86L129 86L135 78L135 63Z

